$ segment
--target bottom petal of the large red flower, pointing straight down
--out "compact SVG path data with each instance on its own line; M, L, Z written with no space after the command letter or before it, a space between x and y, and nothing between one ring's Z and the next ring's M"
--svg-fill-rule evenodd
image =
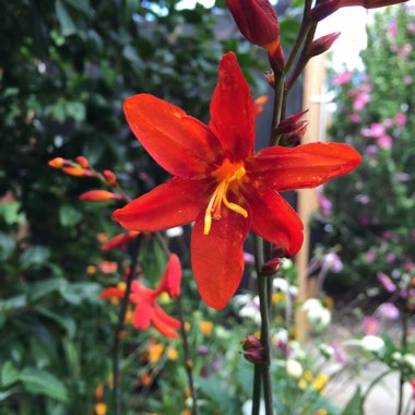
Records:
M209 235L203 235L204 214L201 212L193 227L191 262L201 297L208 306L220 310L235 294L242 277L244 241L251 215L248 212L245 218L223 206L222 218L213 220Z

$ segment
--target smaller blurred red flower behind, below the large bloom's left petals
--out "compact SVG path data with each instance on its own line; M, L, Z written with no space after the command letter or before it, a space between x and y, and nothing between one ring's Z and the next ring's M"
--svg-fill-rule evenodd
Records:
M178 257L171 254L166 271L156 289L151 289L138 281L131 285L130 301L135 304L133 325L139 330L146 330L153 325L159 333L167 337L177 339L177 329L180 321L168 316L157 304L161 294L167 293L170 297L180 295L181 265ZM100 293L102 298L123 298L124 289L110 287Z

